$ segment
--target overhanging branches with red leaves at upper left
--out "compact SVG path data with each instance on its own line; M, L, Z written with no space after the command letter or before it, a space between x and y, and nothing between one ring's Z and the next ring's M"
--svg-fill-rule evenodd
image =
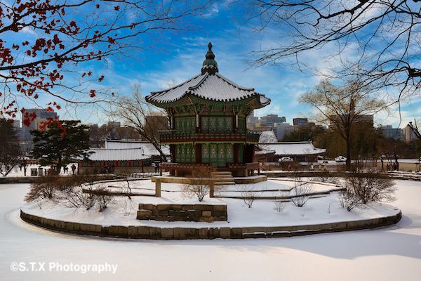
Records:
M116 98L99 83L112 60L163 51L169 34L196 30L187 20L213 0L23 0L0 2L0 115L15 117L22 100L51 100L67 110ZM140 39L142 38L142 39ZM99 71L98 71L99 70ZM41 99L41 97L43 99ZM61 105L60 105L61 104ZM76 110L74 110L76 114ZM25 115L24 124L34 116Z

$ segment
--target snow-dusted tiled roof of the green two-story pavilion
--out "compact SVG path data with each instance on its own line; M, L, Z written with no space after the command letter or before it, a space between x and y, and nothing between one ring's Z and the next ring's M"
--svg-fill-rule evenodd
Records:
M258 96L259 102L263 106L270 103L269 98L266 98L260 93L256 93L253 88L239 86L233 81L223 77L218 72L215 74L205 72L204 74L199 74L173 88L151 92L149 96L146 96L146 100L155 103L173 103L187 94L192 94L206 100L222 102Z

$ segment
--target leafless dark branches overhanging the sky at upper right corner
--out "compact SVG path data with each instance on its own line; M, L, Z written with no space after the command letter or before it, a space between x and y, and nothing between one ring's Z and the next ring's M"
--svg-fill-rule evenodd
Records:
M305 70L317 50L330 50L334 77L348 77L396 93L420 96L421 11L418 0L239 0L245 30L276 32L274 44L250 53L251 67L293 65ZM390 91L394 89L395 91Z

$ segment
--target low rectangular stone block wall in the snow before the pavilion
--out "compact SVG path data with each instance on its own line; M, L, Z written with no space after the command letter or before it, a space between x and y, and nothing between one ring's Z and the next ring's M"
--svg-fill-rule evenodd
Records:
M227 221L227 205L139 204L138 219L154 221Z

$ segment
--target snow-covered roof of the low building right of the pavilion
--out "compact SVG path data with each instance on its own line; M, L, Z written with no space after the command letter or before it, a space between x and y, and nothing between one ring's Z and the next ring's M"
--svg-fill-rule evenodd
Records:
M318 155L326 152L324 148L314 148L311 141L260 143L259 148L262 150L274 150L277 156Z

